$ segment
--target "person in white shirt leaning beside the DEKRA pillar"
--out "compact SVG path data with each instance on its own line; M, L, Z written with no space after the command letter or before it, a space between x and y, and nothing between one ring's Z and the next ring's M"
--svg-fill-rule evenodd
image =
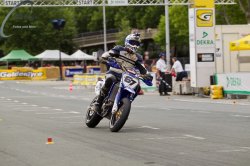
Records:
M187 77L187 72L183 70L182 64L176 57L172 58L173 66L171 73L175 73L176 81L182 81L184 77Z

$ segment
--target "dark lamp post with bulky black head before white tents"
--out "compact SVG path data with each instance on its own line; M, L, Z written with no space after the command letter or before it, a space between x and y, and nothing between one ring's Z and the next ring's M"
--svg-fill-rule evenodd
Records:
M64 19L55 19L52 20L52 24L54 29L58 30L60 32L61 29L64 28L66 21ZM62 74L62 57L61 57L61 37L59 41L59 70L60 70L60 78L59 80L63 80L63 74Z

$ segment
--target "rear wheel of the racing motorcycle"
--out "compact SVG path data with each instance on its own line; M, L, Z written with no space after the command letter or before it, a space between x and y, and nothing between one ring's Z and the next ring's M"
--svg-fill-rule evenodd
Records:
M89 128L95 128L100 121L102 120L103 117L97 114L97 112L94 110L94 103L96 102L98 96L96 96L93 101L90 103L86 117L85 117L85 123Z

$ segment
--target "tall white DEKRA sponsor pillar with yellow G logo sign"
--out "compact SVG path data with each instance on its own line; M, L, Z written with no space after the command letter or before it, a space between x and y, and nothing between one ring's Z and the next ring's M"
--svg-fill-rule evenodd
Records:
M209 0L209 3L212 4L212 2L213 1ZM205 5L203 8L201 8L201 6L199 6L199 8L189 9L190 71L192 87L209 86L210 75L213 75L215 72L216 40L214 8L206 8L210 5Z

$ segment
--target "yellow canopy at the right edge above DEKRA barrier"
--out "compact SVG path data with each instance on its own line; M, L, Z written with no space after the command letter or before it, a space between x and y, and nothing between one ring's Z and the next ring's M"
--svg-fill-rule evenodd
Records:
M231 51L242 51L242 50L250 50L250 35L230 42L230 50Z

